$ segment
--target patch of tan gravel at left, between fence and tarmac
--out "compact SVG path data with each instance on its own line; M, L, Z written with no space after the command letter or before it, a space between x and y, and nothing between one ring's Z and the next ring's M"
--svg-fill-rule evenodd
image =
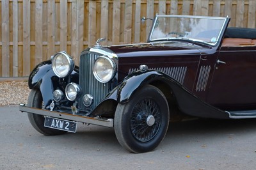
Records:
M0 82L0 106L27 104L29 91L27 81Z

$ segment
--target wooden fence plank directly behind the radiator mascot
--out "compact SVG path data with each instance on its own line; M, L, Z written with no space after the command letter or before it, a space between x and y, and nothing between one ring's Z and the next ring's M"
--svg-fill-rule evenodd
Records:
M102 45L108 44L108 0L101 1L100 38L106 38Z

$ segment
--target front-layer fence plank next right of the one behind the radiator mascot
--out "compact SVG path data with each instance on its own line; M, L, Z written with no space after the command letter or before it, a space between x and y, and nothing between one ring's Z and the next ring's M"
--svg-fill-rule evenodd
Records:
M120 0L113 1L113 34L112 34L112 43L120 43Z

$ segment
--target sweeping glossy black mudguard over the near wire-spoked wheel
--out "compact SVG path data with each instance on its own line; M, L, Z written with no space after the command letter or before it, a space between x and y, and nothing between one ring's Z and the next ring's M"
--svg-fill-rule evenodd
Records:
M200 98L193 95L188 89L184 88L179 82L163 72L155 70L147 70L146 72L138 71L128 75L125 77L124 81L109 93L106 99L115 100L118 103L124 104L125 102L129 102L132 95L143 88L143 86L146 84L154 84L154 82L157 81L170 87L170 90L172 90L175 95L180 111L185 114L201 118L229 118L227 112L205 103L200 100Z

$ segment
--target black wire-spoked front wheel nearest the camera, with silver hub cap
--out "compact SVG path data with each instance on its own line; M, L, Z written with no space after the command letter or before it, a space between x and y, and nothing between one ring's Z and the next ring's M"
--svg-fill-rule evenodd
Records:
M115 134L128 151L151 151L163 141L169 124L169 108L163 93L147 85L115 112Z

